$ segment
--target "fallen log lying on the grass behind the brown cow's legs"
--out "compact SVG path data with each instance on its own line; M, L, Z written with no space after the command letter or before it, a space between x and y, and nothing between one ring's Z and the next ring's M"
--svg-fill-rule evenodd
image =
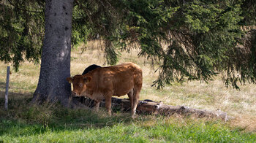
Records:
M85 98L83 104L86 104L89 107L94 106L94 101L89 98ZM105 107L105 101L103 100L100 107ZM123 112L128 112L130 109L130 102L128 98L112 98L112 109L120 109ZM229 120L230 116L227 116L227 112L221 111L212 111L208 109L195 109L185 106L172 106L166 105L162 102L155 102L151 100L143 100L138 101L138 107L136 109L138 114L140 113L148 113L154 115L173 115L173 114L180 114L180 115L195 115L196 117L217 117L222 120Z

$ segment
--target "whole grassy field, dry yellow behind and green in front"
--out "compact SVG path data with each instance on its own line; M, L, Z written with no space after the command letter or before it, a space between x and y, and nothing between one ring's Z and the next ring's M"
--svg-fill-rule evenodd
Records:
M72 50L71 74L81 74L95 63L105 64L99 42L89 42L87 50ZM256 142L256 85L241 90L225 88L220 77L214 81L173 83L162 90L152 88L157 66L138 58L138 50L121 53L118 63L132 61L143 69L140 99L199 109L221 109L235 117L222 120L173 115L170 117L115 112L112 117L101 109L65 109L59 104L29 104L37 87L39 65L25 61L10 75L10 109L4 110L6 66L0 63L0 142ZM124 96L127 98L127 96Z

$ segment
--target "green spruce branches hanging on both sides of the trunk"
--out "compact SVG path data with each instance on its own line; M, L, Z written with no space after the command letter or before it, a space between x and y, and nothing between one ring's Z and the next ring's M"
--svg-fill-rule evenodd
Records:
M256 2L253 0L76 0L72 45L100 38L109 64L119 50L140 48L159 65L158 88L182 80L209 81L221 73L226 85L255 83ZM0 7L0 60L18 70L39 63L44 1L7 0Z

